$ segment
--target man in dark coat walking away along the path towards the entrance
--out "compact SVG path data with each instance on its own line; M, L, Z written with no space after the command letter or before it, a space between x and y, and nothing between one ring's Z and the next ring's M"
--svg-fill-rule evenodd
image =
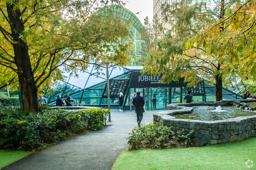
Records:
M132 100L132 104L135 106L135 112L137 115L137 122L138 122L138 126L140 126L140 122L143 118L143 113L145 112L143 106L145 104L144 98L142 96L140 96L140 92L137 91L136 93L136 97L133 98Z

